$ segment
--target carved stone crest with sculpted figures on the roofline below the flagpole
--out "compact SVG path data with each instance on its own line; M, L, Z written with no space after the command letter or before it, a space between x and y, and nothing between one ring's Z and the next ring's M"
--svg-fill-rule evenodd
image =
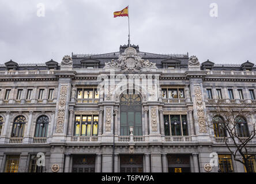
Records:
M124 71L140 71L142 68L156 68L156 63L149 60L141 59L137 51L128 47L125 52L119 56L118 60L112 59L111 62L105 63L104 68L121 68Z

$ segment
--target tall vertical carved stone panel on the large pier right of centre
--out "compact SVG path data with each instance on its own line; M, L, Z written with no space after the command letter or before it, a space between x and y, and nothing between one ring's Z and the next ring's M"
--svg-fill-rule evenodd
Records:
M206 124L205 124L205 112L204 112L204 105L202 102L202 93L201 87L195 87L195 105L197 108L197 118L198 118L198 125L199 125L199 133L206 133Z

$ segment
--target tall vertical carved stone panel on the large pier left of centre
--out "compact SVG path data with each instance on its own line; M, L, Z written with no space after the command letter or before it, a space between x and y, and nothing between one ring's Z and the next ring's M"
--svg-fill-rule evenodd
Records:
M56 133L63 133L64 130L66 99L67 86L61 86L61 93L59 94L59 109L57 115Z

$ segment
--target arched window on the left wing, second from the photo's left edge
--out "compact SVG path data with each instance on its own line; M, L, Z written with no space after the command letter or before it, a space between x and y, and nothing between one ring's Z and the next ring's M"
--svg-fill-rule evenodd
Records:
M35 137L47 137L48 124L49 118L47 116L37 118Z

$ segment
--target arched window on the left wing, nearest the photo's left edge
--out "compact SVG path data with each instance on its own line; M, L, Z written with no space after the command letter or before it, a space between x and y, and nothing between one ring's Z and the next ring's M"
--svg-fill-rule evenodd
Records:
M13 122L12 137L23 137L27 120L24 116L18 116Z

